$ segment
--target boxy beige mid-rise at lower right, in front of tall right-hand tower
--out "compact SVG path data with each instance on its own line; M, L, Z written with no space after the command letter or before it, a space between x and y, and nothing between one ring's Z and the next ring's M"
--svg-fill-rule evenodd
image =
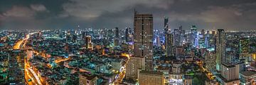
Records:
M239 85L239 64L233 65L223 63L220 79L223 81L223 85Z

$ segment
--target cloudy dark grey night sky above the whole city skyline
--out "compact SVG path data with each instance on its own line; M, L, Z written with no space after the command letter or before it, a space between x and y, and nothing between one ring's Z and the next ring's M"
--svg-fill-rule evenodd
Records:
M0 0L0 29L133 28L134 8L155 29L256 30L256 0Z

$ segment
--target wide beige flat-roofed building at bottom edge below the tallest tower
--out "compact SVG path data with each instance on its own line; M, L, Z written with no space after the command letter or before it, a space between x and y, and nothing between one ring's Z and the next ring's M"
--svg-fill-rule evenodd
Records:
M139 85L164 85L163 72L140 71Z

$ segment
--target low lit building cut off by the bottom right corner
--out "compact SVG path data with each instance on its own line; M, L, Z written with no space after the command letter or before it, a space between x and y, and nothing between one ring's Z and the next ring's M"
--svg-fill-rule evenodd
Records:
M240 73L241 85L255 85L256 73L252 71L245 71Z

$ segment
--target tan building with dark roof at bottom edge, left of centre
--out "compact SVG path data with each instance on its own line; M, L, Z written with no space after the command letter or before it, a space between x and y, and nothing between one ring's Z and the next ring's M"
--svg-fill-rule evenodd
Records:
M79 85L95 85L97 77L94 74L81 73L79 74Z

